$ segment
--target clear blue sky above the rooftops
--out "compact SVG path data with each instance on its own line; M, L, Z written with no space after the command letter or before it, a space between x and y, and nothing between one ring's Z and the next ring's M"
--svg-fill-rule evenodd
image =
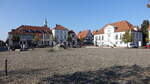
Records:
M0 39L20 25L49 27L61 24L79 32L96 30L105 24L128 20L140 25L150 18L148 0L0 0Z

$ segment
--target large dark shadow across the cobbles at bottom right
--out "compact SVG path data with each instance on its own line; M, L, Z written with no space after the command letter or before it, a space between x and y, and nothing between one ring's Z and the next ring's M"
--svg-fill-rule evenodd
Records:
M88 72L53 75L39 84L150 84L150 67L113 66Z

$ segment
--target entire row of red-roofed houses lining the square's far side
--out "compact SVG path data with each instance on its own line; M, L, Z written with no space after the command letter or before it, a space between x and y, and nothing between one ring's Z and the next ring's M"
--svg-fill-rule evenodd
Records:
M150 39L150 27L148 30ZM64 45L78 45L79 42L96 46L127 47L128 43L122 39L126 31L132 35L132 43L138 47L142 46L143 36L140 28L133 26L128 21L106 24L99 30L93 32L84 30L78 34L59 24L56 24L54 28L49 28L47 21L44 26L22 25L8 33L8 42L10 46L17 45L16 40L19 38L21 47L53 46L62 43Z

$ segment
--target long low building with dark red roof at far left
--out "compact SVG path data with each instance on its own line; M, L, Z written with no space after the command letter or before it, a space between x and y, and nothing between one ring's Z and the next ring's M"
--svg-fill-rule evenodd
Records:
M18 45L20 47L29 48L31 46L52 45L52 31L47 26L22 25L17 29L12 29L8 34L9 46Z

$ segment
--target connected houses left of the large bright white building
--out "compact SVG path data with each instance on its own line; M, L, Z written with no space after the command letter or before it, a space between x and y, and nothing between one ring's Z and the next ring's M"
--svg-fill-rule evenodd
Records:
M91 35L90 38L89 35ZM8 45L20 48L54 46L57 44L76 46L79 39L85 39L83 41L85 43L92 43L93 35L90 30L76 34L73 30L59 24L56 24L54 28L49 28L47 21L45 21L44 26L21 25L8 32Z

